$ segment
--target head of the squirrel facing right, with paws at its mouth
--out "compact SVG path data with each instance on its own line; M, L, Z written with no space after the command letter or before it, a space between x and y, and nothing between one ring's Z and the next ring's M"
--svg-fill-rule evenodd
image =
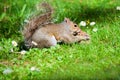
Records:
M81 42L90 40L90 36L82 31L76 23L70 21L68 18L65 18L64 21L70 27L72 35L76 37L76 41Z

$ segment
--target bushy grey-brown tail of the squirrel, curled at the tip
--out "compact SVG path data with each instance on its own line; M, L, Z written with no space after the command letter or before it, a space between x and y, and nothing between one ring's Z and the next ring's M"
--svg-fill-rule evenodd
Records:
M23 36L25 40L29 40L31 38L38 26L51 19L51 15L53 13L52 7L48 3L42 3L41 7L46 9L46 13L30 19L29 22L24 26Z

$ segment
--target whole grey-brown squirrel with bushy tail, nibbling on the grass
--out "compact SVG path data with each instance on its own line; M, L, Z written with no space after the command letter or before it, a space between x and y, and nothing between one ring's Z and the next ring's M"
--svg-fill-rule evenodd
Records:
M89 35L69 18L58 24L46 24L51 19L53 9L48 3L42 3L42 6L48 11L32 18L24 27L23 36L27 48L48 48L56 46L58 42L69 44L90 39Z

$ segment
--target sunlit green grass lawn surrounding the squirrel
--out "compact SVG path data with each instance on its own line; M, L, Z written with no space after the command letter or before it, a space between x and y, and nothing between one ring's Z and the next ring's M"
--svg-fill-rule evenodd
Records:
M30 49L20 54L23 40L20 31L24 20L36 13L36 0L8 0L0 2L0 80L39 79L120 79L120 6L119 0L49 0L54 7L56 23L70 18L94 21L94 26L81 27L91 36L89 43L63 44L48 49ZM9 5L6 12L3 7ZM93 32L97 28L97 32ZM10 50L13 49L14 52ZM37 70L31 71L31 67ZM11 68L12 72L3 74Z

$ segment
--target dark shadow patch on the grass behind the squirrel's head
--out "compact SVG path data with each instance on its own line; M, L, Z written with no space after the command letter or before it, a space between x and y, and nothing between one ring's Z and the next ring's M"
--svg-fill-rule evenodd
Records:
M100 23L103 23L105 21L109 21L115 18L117 14L119 14L119 11L116 10L115 7L111 8L104 8L104 7L95 7L95 8L89 8L89 7L81 7L82 11L78 11L77 15L74 16L76 18L76 22L80 20L92 20L97 21ZM71 13L75 14L74 11ZM72 18L72 19L74 19Z

